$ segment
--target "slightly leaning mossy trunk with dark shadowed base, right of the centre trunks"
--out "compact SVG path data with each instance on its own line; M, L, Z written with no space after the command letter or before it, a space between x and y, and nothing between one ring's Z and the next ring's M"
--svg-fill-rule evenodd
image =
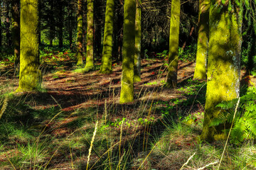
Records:
M169 67L167 86L169 88L177 86L178 72L178 35L180 25L181 1L171 1L171 25L170 25L170 40L169 40Z

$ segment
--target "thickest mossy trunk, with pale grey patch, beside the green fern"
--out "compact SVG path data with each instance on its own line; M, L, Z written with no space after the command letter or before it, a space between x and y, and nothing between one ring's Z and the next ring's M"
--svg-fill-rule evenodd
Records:
M232 4L230 8L227 4ZM242 4L242 3L241 3ZM242 44L242 13L234 1L210 1L210 40L208 82L202 140L224 140L224 126L210 126L220 113L215 106L221 101L238 98L240 91L240 55Z

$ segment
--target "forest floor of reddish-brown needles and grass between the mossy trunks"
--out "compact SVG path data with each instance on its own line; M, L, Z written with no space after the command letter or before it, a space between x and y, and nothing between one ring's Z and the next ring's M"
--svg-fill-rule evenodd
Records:
M167 89L166 62L142 60L134 102L119 104L121 63L113 62L112 74L99 74L74 72L72 61L45 60L41 91L6 102L0 169L181 169L194 152L183 169L210 163L215 169L224 142L198 140L206 81L192 80L195 63L178 62L178 86ZM15 91L13 64L1 65L0 73L0 94ZM236 159L227 157L226 169L237 166ZM254 164L247 162L240 164Z

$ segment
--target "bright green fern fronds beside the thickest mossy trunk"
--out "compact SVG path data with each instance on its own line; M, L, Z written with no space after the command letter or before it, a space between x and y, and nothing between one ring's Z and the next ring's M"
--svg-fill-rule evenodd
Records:
M212 126L217 126L225 123L232 123L235 104L238 99L232 101L223 101L216 107L222 108L223 112L211 123ZM256 138L256 88L250 87L247 93L240 98L238 112L235 116L234 127L231 131L231 142L238 144L244 140ZM229 129L225 130L228 132Z

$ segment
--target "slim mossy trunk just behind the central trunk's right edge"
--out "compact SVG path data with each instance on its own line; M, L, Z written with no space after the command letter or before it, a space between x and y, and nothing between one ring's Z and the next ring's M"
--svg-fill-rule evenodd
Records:
M141 41L142 41L142 11L141 0L136 0L136 18L135 18L135 53L134 53L134 82L141 79Z

